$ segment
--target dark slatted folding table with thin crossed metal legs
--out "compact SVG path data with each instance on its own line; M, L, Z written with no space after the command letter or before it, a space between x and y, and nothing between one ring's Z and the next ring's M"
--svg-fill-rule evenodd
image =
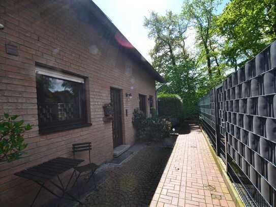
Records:
M16 176L19 176L21 178L25 178L28 180L32 180L41 186L34 201L32 202L32 204L30 206L34 205L42 188L49 191L51 194L58 197L59 199L62 199L65 197L65 195L68 195L71 198L70 200L74 200L74 201L77 201L80 204L82 204L77 198L75 198L73 195L71 195L67 191L68 186L73 178L74 172L72 173L70 180L68 181L68 184L66 186L62 183L62 180L60 179L59 175L67 170L70 170L70 169L76 167L78 164L80 164L83 161L84 160L58 157L58 158L49 160L47 162L41 163L39 165L30 167L30 168L27 168L20 172L15 173ZM52 181L52 179L55 177L57 177L60 185L58 185ZM63 192L62 196L57 195L49 187L46 187L45 183L47 181L49 183L51 183L53 186L55 186L57 189L62 191ZM69 199L69 198L66 198L66 199Z

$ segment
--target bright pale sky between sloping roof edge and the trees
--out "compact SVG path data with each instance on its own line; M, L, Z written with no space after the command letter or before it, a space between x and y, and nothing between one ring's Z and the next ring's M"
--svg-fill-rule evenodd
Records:
M222 1L218 13L222 12L229 1ZM143 26L144 17L149 16L149 11L164 15L166 10L171 10L173 13L179 14L183 0L93 0L93 2L111 19L113 24L146 60L151 62L148 52L154 47L154 40L147 36L148 31ZM190 29L187 35L186 47L187 49L193 49L195 43L194 30Z

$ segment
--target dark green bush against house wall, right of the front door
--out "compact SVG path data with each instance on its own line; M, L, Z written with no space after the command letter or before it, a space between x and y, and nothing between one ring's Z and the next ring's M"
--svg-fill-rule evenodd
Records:
M146 117L139 109L134 109L132 122L136 128L136 136L140 140L158 140L170 135L169 121L156 115Z

